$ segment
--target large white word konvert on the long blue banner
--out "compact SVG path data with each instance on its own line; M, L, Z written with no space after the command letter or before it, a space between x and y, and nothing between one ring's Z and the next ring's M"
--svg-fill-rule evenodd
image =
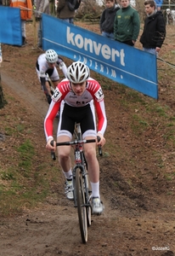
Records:
M116 57L120 58L121 66L125 66L125 53L124 49L121 49L120 52L117 49L110 49L110 46L107 44L100 44L93 41L90 38L83 38L80 34L75 34L71 32L71 27L67 26L67 43L76 46L79 49L84 49L95 55L103 55L105 60L110 60L116 62Z

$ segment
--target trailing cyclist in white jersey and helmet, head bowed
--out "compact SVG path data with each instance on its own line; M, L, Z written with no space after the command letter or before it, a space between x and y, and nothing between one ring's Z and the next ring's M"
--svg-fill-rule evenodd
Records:
M59 73L57 71L57 66L62 70L66 78L67 67L62 58L57 55L54 49L48 49L46 53L39 55L36 63L37 77L41 83L42 90L44 91L48 104L51 102L52 91L48 83L50 79L54 88L59 84Z

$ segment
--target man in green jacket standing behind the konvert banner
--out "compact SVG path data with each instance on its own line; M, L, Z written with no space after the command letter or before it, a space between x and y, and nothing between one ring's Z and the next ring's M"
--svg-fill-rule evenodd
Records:
M116 12L114 21L114 38L116 41L133 46L140 28L138 11L130 6L129 0L121 0L120 4L121 9Z

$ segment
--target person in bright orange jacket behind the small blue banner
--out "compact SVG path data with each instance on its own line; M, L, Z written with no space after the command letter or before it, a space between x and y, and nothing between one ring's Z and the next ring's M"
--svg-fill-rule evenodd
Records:
M31 0L11 0L10 7L20 8L22 45L24 46L26 44L25 23L26 20L31 19L32 14Z

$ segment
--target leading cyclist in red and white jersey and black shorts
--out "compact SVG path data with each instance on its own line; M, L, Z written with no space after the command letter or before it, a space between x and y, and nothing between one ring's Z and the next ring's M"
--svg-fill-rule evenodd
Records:
M56 149L50 142L53 137L54 117L60 107L59 125L57 131L57 142L71 141L75 122L81 124L82 138L94 139L100 137L98 145L104 146L104 131L107 119L104 108L104 94L98 81L89 77L89 68L81 61L76 61L68 67L67 79L63 79L52 96L52 102L48 108L44 120L44 131L46 135L46 148ZM98 117L96 126L95 110ZM59 164L65 173L65 193L68 199L73 200L72 193L72 171L71 171L71 147L60 146L58 149ZM96 157L95 143L84 144L84 153L88 161L88 174L92 187L93 213L100 214L104 206L99 195L99 162Z

